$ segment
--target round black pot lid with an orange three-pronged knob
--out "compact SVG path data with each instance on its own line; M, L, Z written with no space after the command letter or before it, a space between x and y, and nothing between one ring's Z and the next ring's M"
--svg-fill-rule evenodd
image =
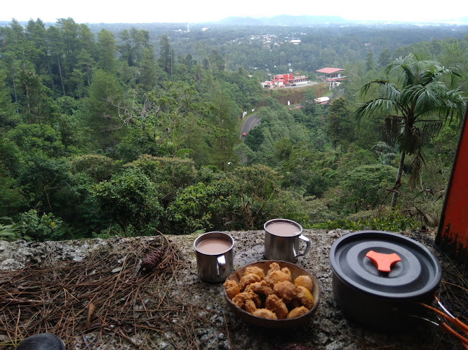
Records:
M412 299L433 292L439 260L413 239L391 232L359 231L337 239L330 266L339 279L372 295Z

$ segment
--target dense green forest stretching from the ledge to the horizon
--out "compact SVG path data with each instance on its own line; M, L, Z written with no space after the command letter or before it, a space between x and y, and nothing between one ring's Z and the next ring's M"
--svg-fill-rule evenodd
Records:
M460 25L2 23L0 239L436 227L467 69Z

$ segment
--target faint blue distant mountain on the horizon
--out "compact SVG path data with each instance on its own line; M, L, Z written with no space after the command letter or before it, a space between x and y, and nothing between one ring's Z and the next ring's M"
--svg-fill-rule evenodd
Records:
M339 16L292 16L278 15L274 17L251 18L251 17L228 17L220 20L221 25L294 25L294 26L309 26L323 25L326 23L349 23L349 20Z

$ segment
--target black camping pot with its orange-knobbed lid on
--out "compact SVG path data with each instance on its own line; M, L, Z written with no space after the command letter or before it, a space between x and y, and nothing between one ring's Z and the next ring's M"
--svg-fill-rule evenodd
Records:
M349 318L376 330L407 327L434 300L442 271L419 242L391 232L352 232L330 248L333 296Z

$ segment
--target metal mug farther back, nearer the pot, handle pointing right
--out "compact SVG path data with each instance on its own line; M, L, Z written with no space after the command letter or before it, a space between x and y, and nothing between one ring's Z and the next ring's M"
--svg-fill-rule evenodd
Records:
M302 226L283 218L267 221L265 225L265 257L269 260L295 262L310 249L310 240L302 235ZM305 241L304 253L299 253L300 241Z

